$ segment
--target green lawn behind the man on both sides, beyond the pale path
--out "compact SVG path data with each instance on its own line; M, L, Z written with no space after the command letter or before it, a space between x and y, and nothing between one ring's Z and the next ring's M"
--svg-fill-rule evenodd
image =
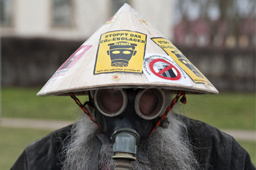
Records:
M75 120L80 109L71 97L37 97L39 88L2 89L2 116ZM83 97L81 101L85 101ZM220 93L187 95L187 104L179 103L175 112L212 124L217 128L255 130L255 94Z

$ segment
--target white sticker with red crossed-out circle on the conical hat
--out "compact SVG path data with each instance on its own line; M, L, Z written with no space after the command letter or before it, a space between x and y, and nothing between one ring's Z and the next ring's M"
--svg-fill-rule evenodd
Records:
M145 54L143 73L150 82L166 82L191 86L189 76L167 55Z

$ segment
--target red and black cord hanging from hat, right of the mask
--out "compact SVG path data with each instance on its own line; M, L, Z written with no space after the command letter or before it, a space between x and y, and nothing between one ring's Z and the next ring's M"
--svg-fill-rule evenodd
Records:
M148 137L154 132L154 130L162 123L162 121L164 120L164 118L167 116L167 114L170 112L170 110L172 110L173 106L177 103L177 101L179 100L179 98L183 96L181 98L181 102L183 104L187 103L186 100L186 95L185 95L185 91L179 91L179 93L176 95L176 97L174 97L174 99L172 99L172 102L170 103L170 105L168 106L168 108L166 109L166 112L164 112L164 114L162 115L161 118L159 118L158 122L156 123L156 126L154 126L154 128L152 129L152 131L150 132L150 134L148 134Z

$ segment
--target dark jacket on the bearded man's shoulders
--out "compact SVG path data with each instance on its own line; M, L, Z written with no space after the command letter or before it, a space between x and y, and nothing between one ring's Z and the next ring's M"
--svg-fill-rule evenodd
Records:
M201 169L255 169L247 151L232 136L203 122L185 119L189 141L196 148L193 152ZM28 144L11 169L61 169L57 156L70 130L71 125Z

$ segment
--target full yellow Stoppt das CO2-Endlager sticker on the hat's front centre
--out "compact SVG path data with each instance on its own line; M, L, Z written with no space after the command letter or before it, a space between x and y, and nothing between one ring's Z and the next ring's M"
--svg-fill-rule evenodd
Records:
M146 39L146 34L124 30L102 34L94 74L142 73Z

